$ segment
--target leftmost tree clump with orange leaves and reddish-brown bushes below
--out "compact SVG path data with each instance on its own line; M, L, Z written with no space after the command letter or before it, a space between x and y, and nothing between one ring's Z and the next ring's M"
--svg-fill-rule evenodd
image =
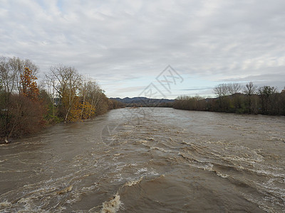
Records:
M0 58L0 143L9 142L44 125L44 106L38 101L36 72L30 60Z

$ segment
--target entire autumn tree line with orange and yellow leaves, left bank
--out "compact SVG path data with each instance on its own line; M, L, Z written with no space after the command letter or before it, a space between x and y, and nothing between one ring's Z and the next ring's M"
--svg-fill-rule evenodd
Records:
M51 67L41 84L38 71L31 60L0 57L0 138L6 142L49 124L90 119L124 107L74 67Z

